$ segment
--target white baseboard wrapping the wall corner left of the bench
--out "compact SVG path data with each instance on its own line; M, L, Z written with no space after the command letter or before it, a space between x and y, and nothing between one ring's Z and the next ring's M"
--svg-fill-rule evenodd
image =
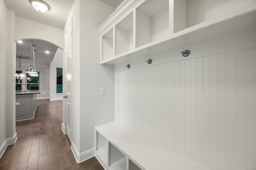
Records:
M95 148L92 148L92 149L89 149L89 150L79 153L78 150L76 149L76 146L73 143L73 141L71 142L71 150L76 158L77 163L81 163L81 162L95 156Z

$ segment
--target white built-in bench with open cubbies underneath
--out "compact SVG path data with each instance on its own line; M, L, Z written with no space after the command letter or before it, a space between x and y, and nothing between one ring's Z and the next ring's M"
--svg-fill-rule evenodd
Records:
M116 122L95 127L95 133L96 158L106 170L209 170ZM108 146L106 162L100 143Z

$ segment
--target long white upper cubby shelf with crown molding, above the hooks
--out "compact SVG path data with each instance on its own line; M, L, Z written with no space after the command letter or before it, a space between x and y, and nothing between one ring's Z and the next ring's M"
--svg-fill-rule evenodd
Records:
M194 4L191 4L194 2L124 1L98 28L101 40L100 63L124 63L140 56L168 51L256 25L256 2L252 1L236 9L227 5L222 13L201 9L203 5L194 8ZM208 15L203 16L203 10Z

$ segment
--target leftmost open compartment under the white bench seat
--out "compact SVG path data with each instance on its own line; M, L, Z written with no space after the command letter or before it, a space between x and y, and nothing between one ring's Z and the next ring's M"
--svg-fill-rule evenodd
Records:
M96 153L97 158L100 158L102 162L107 165L108 156L108 142L107 140L96 131Z

